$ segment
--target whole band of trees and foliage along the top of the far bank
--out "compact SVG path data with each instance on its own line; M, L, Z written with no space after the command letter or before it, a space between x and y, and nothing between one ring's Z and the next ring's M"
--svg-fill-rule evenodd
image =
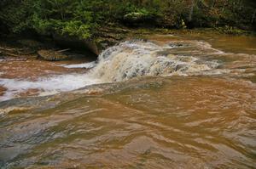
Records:
M246 1L247 3L242 3ZM192 3L194 2L194 3ZM186 28L252 25L252 0L2 0L0 28L90 38L109 22ZM192 5L193 4L193 5ZM247 4L247 5L245 5ZM191 10L193 9L193 10ZM192 12L192 13L191 13ZM191 19L191 20L190 20Z

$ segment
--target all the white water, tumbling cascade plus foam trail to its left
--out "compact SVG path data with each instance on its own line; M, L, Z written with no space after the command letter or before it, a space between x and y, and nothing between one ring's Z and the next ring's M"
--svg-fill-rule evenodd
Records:
M211 48L201 42L191 43L197 47ZM185 44L187 45L187 44ZM7 88L0 101L17 97L29 89L37 89L39 95L71 91L102 82L121 82L138 76L190 76L216 74L216 61L206 61L189 55L170 54L172 48L185 48L175 44L157 45L153 42L122 42L105 50L98 63L62 65L66 68L86 68L86 74L67 74L39 78L36 82L26 79L1 79L0 86ZM213 50L214 51L214 50ZM219 51L215 51L219 52ZM215 70L215 71L213 71Z

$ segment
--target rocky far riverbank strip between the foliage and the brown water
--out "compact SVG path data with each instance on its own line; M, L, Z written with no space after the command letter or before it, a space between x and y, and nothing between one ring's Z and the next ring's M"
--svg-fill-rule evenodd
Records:
M76 37L58 36L42 37L39 35L3 37L0 42L0 57L9 56L20 59L38 59L39 50L62 51L73 49L80 54L101 54L103 50L119 42L129 39L143 39L148 35L227 35L227 36L251 36L254 31L244 31L234 27L198 28L198 29L155 29L155 28L129 28L124 26L102 28L94 39L79 40ZM72 53L72 52L71 52ZM72 55L66 53L67 55ZM4 56L3 56L4 55ZM65 55L65 54L64 54ZM49 57L50 58L50 57ZM63 59L67 59L63 57ZM49 59L50 60L50 59Z

